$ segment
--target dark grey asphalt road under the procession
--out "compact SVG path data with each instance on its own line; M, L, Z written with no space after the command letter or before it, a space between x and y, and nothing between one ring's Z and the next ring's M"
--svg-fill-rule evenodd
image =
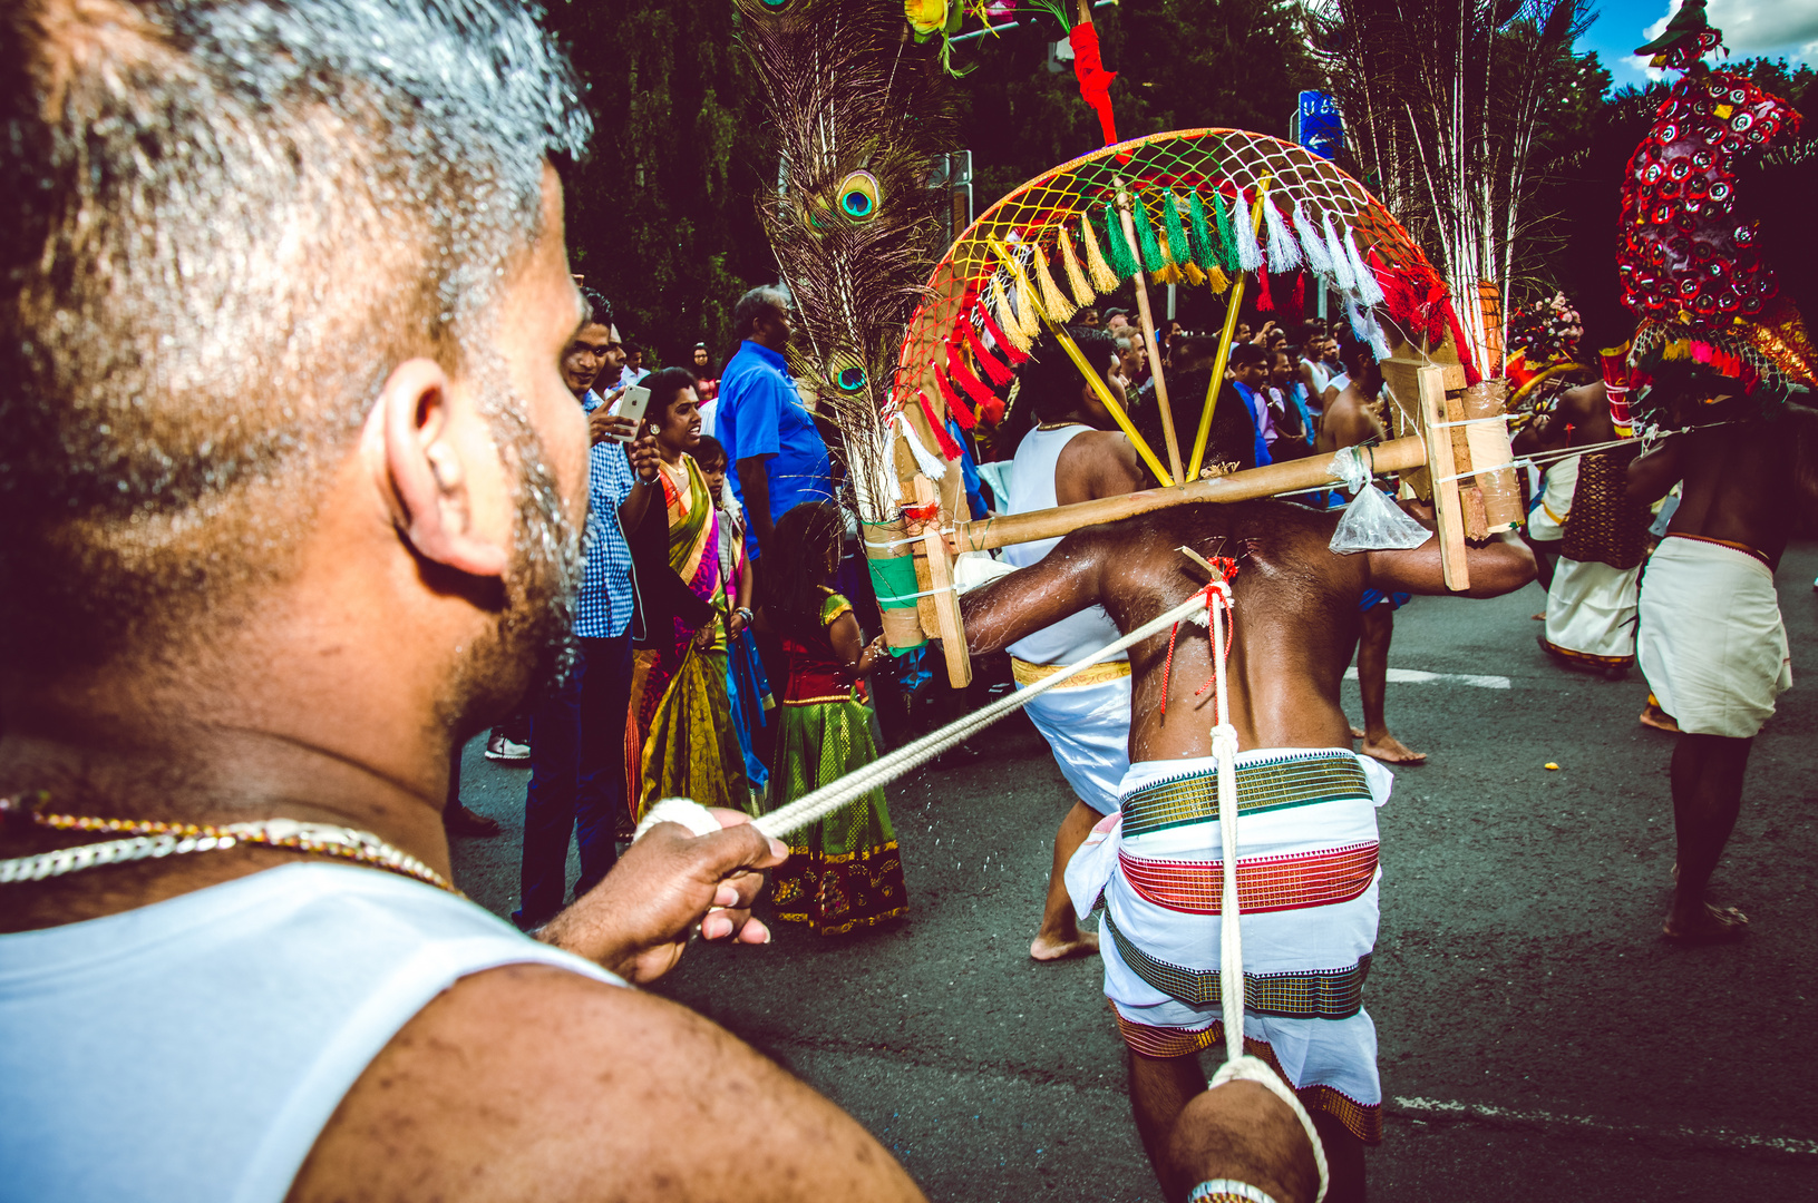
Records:
M1818 647L1814 572L1818 543L1780 567L1796 674ZM1529 585L1396 616L1393 671L1438 676L1389 687L1391 727L1433 760L1378 812L1373 1196L1818 1198L1818 687L1783 694L1758 738L1714 881L1749 936L1671 947L1673 736L1634 721L1638 674L1556 669L1542 607ZM1356 718L1354 683L1345 700ZM905 921L696 945L656 989L847 1107L934 1199L1158 1199L1096 958L1027 958L1071 794L1024 720L978 743L889 790ZM458 841L456 878L505 914L527 774L478 743L465 763L469 805L507 834Z

